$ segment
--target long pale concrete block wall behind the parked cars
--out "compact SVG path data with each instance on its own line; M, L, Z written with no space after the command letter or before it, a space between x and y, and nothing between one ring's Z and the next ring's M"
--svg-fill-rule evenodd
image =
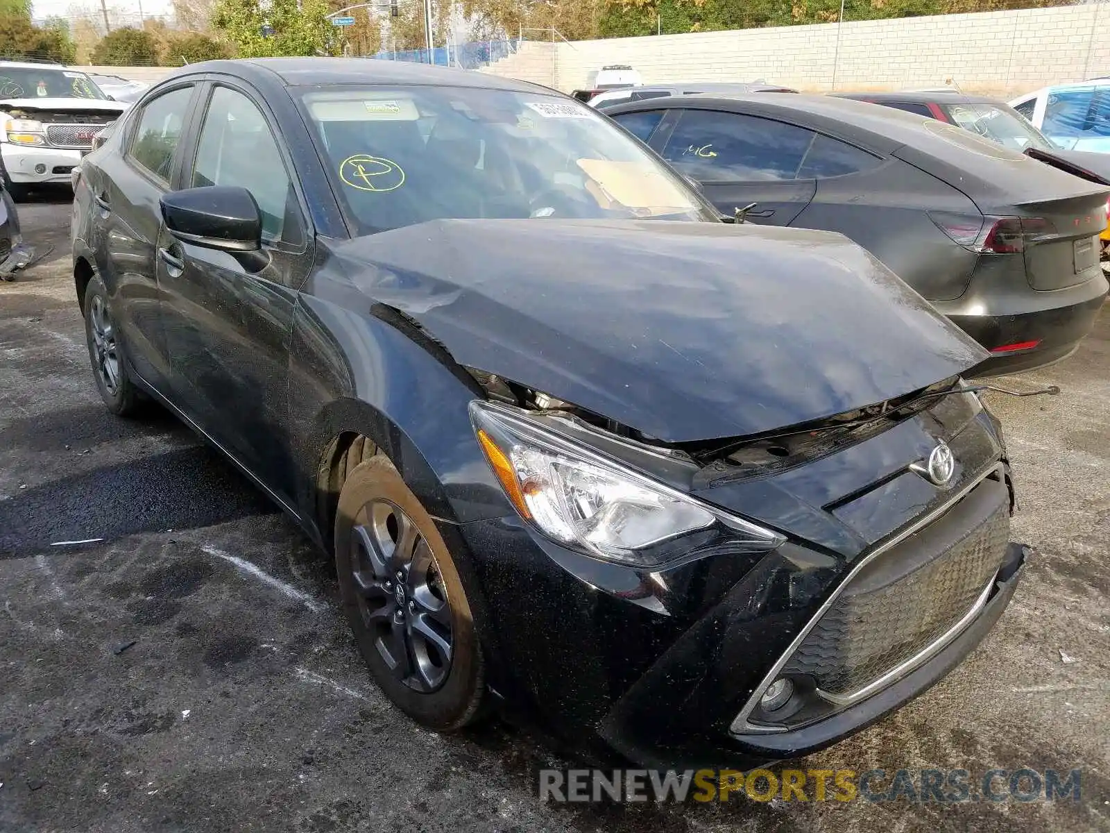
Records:
M483 71L569 92L609 63L632 64L648 83L765 79L828 91L942 87L952 79L968 92L1010 97L1110 74L1110 3L528 42Z

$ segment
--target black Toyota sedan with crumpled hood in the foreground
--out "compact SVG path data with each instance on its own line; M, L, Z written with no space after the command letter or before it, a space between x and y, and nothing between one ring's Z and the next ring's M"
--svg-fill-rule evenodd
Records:
M75 177L110 409L334 555L371 674L457 730L748 766L975 648L1025 550L986 353L839 234L722 222L577 102L387 61L193 64Z

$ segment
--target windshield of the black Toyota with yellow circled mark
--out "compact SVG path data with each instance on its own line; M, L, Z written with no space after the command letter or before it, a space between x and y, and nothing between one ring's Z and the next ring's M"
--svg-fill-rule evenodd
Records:
M576 101L452 87L332 87L302 101L362 234L454 218L717 219Z

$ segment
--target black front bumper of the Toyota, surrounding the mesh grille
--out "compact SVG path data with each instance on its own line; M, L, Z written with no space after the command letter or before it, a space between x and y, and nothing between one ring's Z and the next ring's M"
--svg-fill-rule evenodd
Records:
M1008 476L996 464L950 495L928 523L988 478L1005 493L999 500L1008 512ZM897 498L888 493L887 500ZM564 550L515 518L451 526L445 538L470 553L490 684L509 712L578 755L653 769L745 770L864 729L978 644L1012 595L1025 560L1023 548L1006 544L1003 531L983 604L937 650L827 716L749 733L733 731L737 716L850 582L858 561L794 539L769 553L722 553L646 573Z

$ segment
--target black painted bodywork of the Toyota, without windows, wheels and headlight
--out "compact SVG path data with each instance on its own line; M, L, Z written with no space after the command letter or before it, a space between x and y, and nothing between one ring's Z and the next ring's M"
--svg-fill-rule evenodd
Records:
M911 699L975 646L1020 569L1022 553L1005 539L983 550L997 561L985 604L952 639L927 641L927 662L847 709L759 732L737 724L766 716L753 704L769 675L838 596L860 594L854 576L867 564L934 571L934 521L961 518L951 511L968 495L993 501L998 532L1008 532L999 424L956 380L982 352L835 234L536 219L437 220L352 239L324 157L292 117L289 84L535 92L372 63L189 67L87 158L72 228L78 298L99 271L137 384L325 549L344 451L359 438L377 445L457 564L490 689L578 752L741 767L801 754ZM182 84L195 87L189 127L169 180L155 183L121 148L145 103ZM281 137L300 244L230 253L173 238L159 219L159 194L189 182L199 132L189 114L213 84L243 91ZM532 399L515 405L522 419L562 421L584 448L760 524L780 545L695 550L645 569L541 534L476 440L468 409L496 399L480 371L527 389ZM545 410L537 392L565 401ZM798 423L801 439L776 439L783 448L766 460L730 450ZM705 459L663 441L714 438L727 449ZM952 462L938 484L930 461L942 444ZM896 555L881 559L887 551Z

